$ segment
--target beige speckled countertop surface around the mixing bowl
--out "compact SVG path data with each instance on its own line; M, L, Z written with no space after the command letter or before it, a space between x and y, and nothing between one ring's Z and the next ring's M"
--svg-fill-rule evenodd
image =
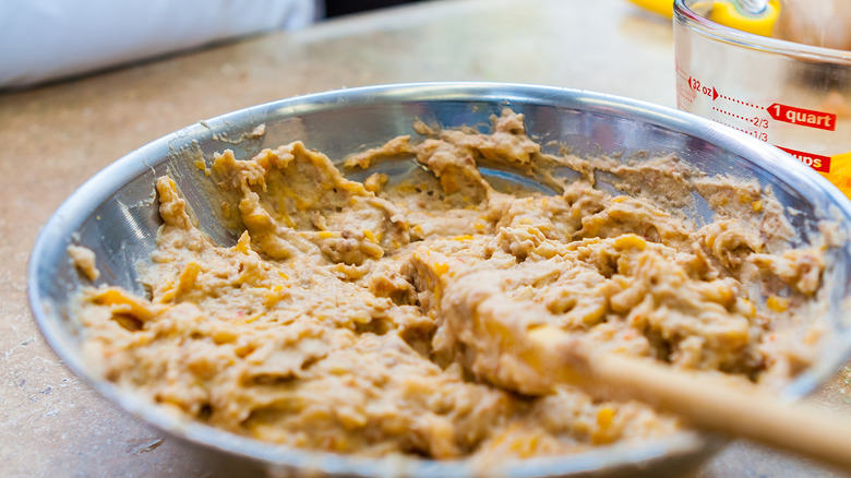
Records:
M115 159L235 109L372 84L536 83L675 106L673 63L670 22L625 0L445 0L0 93L0 475L224 474L89 390L53 355L29 311L26 264L39 228ZM846 374L812 401L851 409ZM804 475L841 476L744 442L698 471Z

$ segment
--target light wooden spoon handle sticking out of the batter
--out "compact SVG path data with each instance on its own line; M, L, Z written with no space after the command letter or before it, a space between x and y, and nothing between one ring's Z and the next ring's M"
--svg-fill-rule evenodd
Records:
M550 327L528 334L546 379L639 399L694 427L751 439L851 470L851 418L786 404L748 383L728 383L650 359L598 352Z

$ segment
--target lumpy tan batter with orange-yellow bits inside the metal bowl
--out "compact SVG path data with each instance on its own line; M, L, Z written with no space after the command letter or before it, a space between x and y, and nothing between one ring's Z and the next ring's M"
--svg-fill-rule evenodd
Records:
M211 178L244 232L218 247L169 177L144 267L148 297L87 288L85 354L108 380L225 430L363 456L502 461L673 433L638 402L543 383L512 331L560 327L594 346L767 387L815 358L825 267L770 192L675 157L544 154L523 116L350 156L415 160L405 180L348 180L295 142ZM500 191L480 165L535 171L558 194ZM559 180L555 166L580 172ZM631 194L595 189L620 178ZM662 198L660 191L666 193ZM692 191L716 212L686 218Z

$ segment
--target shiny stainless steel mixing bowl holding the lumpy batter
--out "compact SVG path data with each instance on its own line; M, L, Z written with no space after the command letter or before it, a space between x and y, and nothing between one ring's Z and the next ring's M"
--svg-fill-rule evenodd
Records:
M443 127L486 126L492 113L511 107L526 116L531 135L555 151L622 154L650 158L676 154L709 175L755 179L774 189L789 208L788 218L808 242L820 219L838 219L851 234L851 203L803 164L772 146L712 121L633 99L575 89L489 83L432 83L344 89L284 99L192 124L117 160L75 191L45 226L29 263L33 312L57 355L104 396L170 435L199 445L217 457L227 455L275 475L290 471L358 476L467 476L481 474L467 462L365 459L260 443L175 417L93 373L81 357L80 324L69 303L81 278L70 262L71 243L97 253L97 284L142 292L134 264L155 248L161 224L154 181L176 178L200 227L214 240L231 243L238 231L219 220L215 188L195 166L214 152L232 148L248 158L263 147L293 140L340 160L345 154L375 146L399 134L416 134L415 119ZM265 124L265 134L250 132ZM552 143L551 143L552 142ZM601 187L607 184L600 178ZM708 208L695 214L710 215ZM839 367L849 351L849 327L842 300L851 288L851 251L829 251L825 283L830 287L830 321L836 328L818 363L786 390L799 397ZM505 476L659 476L680 474L711 454L722 442L708 434L683 432L662 440L603 446L587 453L502 464ZM495 470L487 470L490 474Z

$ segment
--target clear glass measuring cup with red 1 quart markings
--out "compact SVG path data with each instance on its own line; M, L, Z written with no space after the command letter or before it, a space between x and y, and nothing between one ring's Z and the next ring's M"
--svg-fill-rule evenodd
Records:
M676 105L780 147L851 196L851 51L745 33L675 0Z

